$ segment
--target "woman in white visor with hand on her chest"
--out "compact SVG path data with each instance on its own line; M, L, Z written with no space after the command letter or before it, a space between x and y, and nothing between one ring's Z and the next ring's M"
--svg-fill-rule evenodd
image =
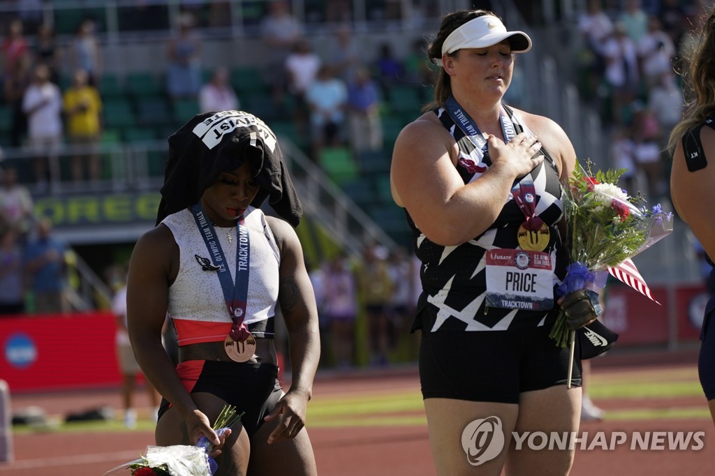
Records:
M438 475L566 475L573 450L512 432L578 430L581 363L548 337L568 264L561 183L576 152L551 119L504 104L515 53L490 11L455 11L428 56L435 101L400 133L390 177L422 262L420 382Z

